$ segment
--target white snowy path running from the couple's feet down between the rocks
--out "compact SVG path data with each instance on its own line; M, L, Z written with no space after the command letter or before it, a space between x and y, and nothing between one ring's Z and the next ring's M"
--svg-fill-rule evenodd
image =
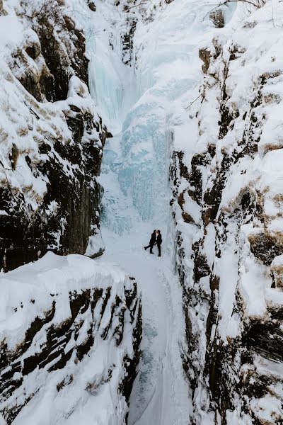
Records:
M181 307L174 305L178 290L168 254L158 258L144 251L152 225L144 223L119 237L103 229L106 251L103 261L117 263L139 283L142 295L144 337L141 370L130 400L129 425L186 425L187 386L178 348ZM173 308L174 305L174 308ZM177 307L177 309L176 309ZM176 311L179 310L179 311Z

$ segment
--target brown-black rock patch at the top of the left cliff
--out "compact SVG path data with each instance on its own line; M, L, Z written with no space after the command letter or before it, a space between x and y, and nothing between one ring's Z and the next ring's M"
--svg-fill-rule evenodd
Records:
M67 98L72 75L87 84L85 38L64 6L57 0L40 4L22 0L18 14L36 34L28 33L23 50L18 49L10 61L13 74L25 89L37 101L54 102Z

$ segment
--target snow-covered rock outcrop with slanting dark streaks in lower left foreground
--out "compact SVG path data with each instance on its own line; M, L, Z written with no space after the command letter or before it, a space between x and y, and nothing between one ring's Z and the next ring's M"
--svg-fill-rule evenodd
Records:
M1 424L125 424L139 361L137 283L48 252L0 277Z

